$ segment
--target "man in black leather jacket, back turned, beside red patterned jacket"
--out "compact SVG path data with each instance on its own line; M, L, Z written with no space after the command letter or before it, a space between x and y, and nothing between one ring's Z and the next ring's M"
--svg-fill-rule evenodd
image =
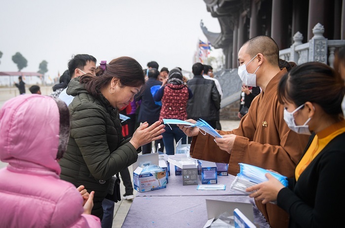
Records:
M203 75L204 65L196 63L192 66L193 79L187 82L188 88L193 93L193 98L188 100L188 119L205 120L212 128L216 128L219 120L217 111L220 109L220 95L214 81L205 79Z

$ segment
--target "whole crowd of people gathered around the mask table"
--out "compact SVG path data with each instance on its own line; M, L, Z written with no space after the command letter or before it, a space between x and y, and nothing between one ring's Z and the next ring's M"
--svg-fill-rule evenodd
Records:
M334 68L296 65L279 59L269 36L246 41L238 53L241 122L231 131L221 130L223 91L209 65L194 64L186 80L180 67L151 61L143 69L130 57L97 66L78 54L51 96L39 86L25 95L20 78L23 95L0 110L0 159L8 163L0 227L111 227L112 177L121 174L122 197L133 199L128 166L138 153L173 155L179 140L191 143L195 159L228 163L232 175L248 163L288 177L288 187L266 174L247 189L270 227L342 227L345 199L333 192L345 174L345 48L335 56ZM222 138L163 119L203 119Z

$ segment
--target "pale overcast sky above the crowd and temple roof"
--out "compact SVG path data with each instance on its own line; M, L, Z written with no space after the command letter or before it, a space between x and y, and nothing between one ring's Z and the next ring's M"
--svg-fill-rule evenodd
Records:
M0 71L17 71L12 56L20 52L37 71L48 62L47 75L67 69L75 54L101 60L135 58L143 68L180 66L191 71L200 20L220 32L218 20L203 0L7 0L1 2Z

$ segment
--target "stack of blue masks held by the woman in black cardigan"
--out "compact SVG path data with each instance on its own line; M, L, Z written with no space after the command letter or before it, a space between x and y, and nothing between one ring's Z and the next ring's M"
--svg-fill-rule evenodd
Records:
M261 182L268 181L268 179L265 177L266 173L270 173L272 176L274 176L282 185L287 187L287 177L277 174L275 172L269 171L267 169L263 169L254 165L250 164L240 164L240 173L237 174L234 182L231 184L231 189L240 191L242 193L245 193L247 195L253 193L253 192L246 192L245 189L249 188L251 186L260 184Z

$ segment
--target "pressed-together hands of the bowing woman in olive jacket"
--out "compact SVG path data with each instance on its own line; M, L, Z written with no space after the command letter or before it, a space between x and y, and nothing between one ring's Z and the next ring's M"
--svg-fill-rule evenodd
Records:
M134 132L130 143L138 149L140 146L145 145L149 142L155 141L157 139L163 138L161 133L163 133L165 125L160 121L152 124L148 127L148 123L145 122L141 124L138 129Z

